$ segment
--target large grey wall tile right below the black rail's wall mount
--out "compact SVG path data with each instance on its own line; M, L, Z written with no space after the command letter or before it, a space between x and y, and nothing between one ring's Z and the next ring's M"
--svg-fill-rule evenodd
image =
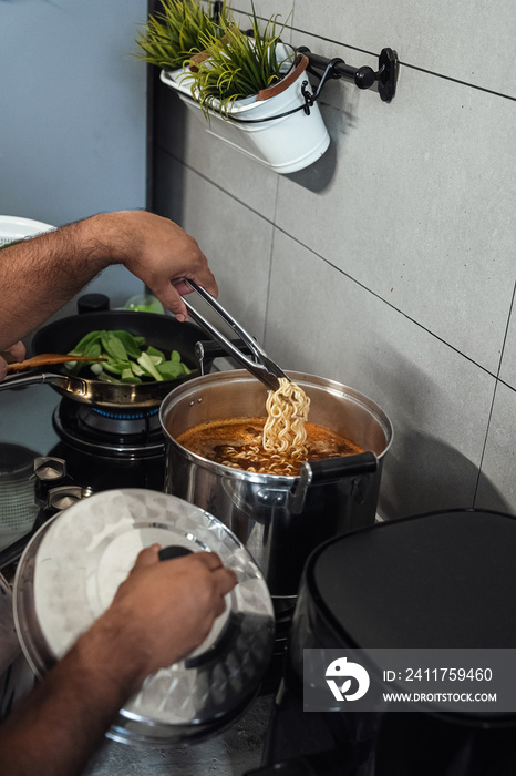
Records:
M332 86L332 147L280 180L277 225L496 374L514 285L515 103L409 70L389 105Z

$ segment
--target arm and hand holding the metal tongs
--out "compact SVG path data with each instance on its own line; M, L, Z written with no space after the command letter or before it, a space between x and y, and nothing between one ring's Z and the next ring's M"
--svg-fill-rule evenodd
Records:
M101 213L0 251L0 350L22 339L102 269L123 264L179 320L187 316L177 283L192 278L215 296L217 284L193 237L145 211Z

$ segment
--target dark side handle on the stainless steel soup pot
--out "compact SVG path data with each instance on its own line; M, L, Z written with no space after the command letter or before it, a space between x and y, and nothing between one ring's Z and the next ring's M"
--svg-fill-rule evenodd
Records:
M300 514L305 506L307 490L310 486L327 484L338 480L370 474L378 469L378 458L374 452L360 452L357 456L328 458L323 461L305 461L301 463L299 482L289 493L288 507L292 514Z

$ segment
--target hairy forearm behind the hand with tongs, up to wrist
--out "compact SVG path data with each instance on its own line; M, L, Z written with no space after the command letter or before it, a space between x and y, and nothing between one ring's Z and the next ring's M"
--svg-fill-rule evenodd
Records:
M112 263L93 216L0 251L0 350L22 339Z

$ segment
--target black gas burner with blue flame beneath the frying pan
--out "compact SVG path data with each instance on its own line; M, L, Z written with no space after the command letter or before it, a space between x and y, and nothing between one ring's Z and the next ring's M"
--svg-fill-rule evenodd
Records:
M159 408L103 409L63 399L54 410L53 427L71 447L92 455L144 458L163 453Z

